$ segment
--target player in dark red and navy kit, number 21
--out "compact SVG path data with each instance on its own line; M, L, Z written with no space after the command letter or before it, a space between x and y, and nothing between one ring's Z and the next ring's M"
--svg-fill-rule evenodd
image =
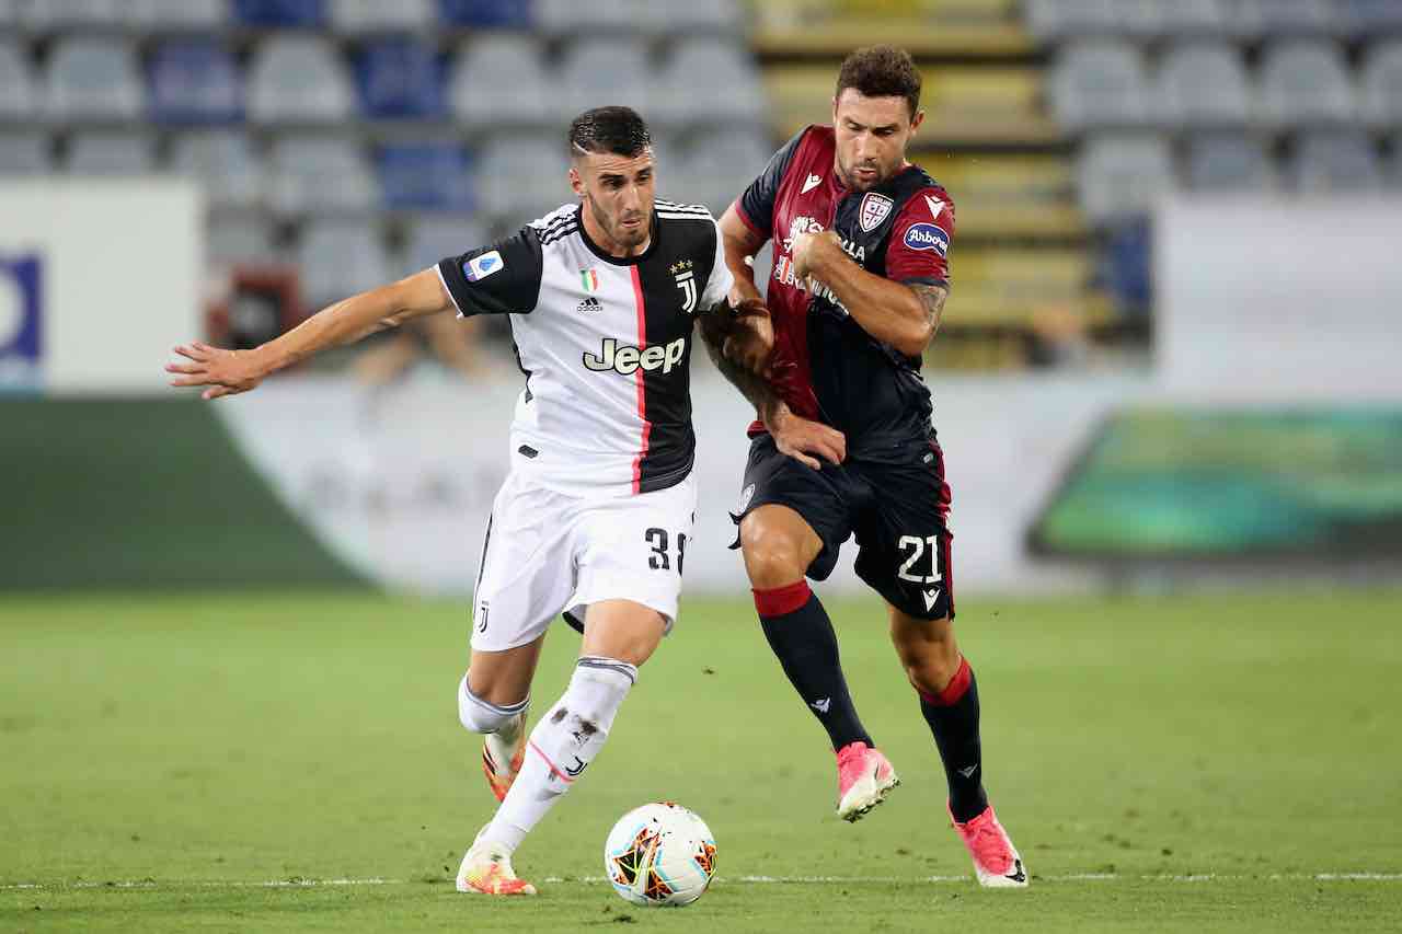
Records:
M949 295L955 230L949 194L906 160L924 119L920 84L900 49L843 62L833 125L791 139L721 219L730 300L750 311L757 342L708 348L758 412L739 546L764 637L837 753L837 813L857 820L899 784L857 715L833 625L805 581L826 579L855 534L857 574L886 602L979 882L1023 886L983 788L979 689L953 631L949 485L920 376ZM770 238L765 317L746 259ZM768 381L732 358L767 363Z

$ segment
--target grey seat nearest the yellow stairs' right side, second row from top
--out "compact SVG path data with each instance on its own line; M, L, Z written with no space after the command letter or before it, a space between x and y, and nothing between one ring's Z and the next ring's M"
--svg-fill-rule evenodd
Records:
M1052 102L1073 132L1143 123L1150 93L1138 49L1108 42L1067 48L1052 76Z

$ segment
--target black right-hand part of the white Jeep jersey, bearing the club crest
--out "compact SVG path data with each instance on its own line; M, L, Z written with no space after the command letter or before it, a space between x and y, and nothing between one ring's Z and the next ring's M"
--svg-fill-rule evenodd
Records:
M652 428L638 464L638 492L666 489L687 477L695 459L691 426L691 325L686 304L700 296L715 265L716 227L709 215L665 219L651 255L638 264L648 346L681 348L674 363L644 370L644 417ZM686 273L690 272L690 279ZM688 293L687 286L694 292ZM677 344L680 341L680 344Z

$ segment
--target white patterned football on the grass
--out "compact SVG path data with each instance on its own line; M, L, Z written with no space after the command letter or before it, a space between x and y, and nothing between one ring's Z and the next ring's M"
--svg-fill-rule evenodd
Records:
M608 833L604 872L634 905L691 905L715 874L715 837L681 805L646 804L620 818Z

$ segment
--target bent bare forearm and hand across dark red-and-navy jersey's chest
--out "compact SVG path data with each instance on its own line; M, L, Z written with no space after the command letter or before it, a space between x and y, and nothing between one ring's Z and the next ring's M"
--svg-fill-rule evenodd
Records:
M831 230L794 237L794 271L829 289L852 320L878 341L921 356L935 338L949 289L903 285L862 269Z

